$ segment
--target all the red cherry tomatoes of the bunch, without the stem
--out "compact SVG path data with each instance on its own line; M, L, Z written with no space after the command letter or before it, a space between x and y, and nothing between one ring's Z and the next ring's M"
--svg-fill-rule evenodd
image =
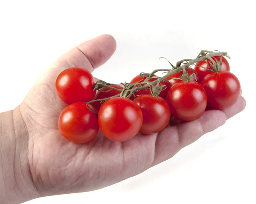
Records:
M213 72L212 60L219 63L218 71ZM193 121L206 109L226 109L239 98L239 80L230 72L223 56L199 61L195 69L187 67L187 80L183 74L182 70L154 83L152 86L162 87L159 95L152 95L152 89L147 87L136 89L131 97L125 98L116 96L124 86L111 84L96 92L96 82L86 69L65 69L55 83L59 98L68 104L59 116L58 128L74 143L93 140L99 129L112 141L127 141L138 132L144 135L160 132L171 116L184 122ZM145 80L150 83L158 78L138 75L130 84Z

